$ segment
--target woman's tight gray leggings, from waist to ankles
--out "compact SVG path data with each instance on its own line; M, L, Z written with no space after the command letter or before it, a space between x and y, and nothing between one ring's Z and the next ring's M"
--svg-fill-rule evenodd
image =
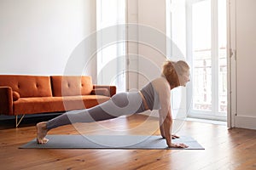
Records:
M119 93L95 107L79 111L67 111L61 116L49 120L46 126L49 130L76 122L104 121L118 116L141 113L143 111L145 111L143 99L138 92Z

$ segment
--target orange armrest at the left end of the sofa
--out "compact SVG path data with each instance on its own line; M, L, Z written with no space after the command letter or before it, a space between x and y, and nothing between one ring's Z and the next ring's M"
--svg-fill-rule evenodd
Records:
M13 115L13 91L10 87L0 87L0 114Z

